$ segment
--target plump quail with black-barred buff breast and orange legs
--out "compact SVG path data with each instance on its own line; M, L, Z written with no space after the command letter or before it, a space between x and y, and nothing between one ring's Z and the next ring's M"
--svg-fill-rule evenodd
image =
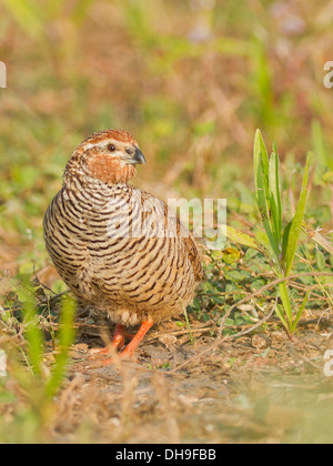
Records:
M203 276L199 245L176 213L129 184L145 163L127 131L93 133L70 156L43 217L46 247L62 280L115 324L101 355L133 356L154 323L192 303ZM124 347L127 327L139 324ZM103 365L113 363L103 357Z

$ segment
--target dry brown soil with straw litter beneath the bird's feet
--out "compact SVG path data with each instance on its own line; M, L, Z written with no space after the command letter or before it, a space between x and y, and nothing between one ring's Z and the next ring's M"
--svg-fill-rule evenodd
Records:
M272 321L264 333L218 347L209 324L191 323L190 334L169 322L150 331L137 358L115 357L105 367L88 353L101 345L101 327L83 317L53 435L97 443L332 443L333 377L329 365L324 372L332 326L313 317L293 341Z

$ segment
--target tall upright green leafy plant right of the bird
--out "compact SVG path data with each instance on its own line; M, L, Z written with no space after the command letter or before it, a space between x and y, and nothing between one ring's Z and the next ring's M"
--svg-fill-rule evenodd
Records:
M269 156L259 130L254 139L253 159L255 199L265 230L265 237L261 237L260 242L272 259L278 277L287 278L291 275L304 220L311 155L307 155L299 204L289 222L283 217L278 148L273 144ZM291 336L303 314L309 292L296 313L293 312L287 280L279 284L279 292L282 304L276 305L276 314Z

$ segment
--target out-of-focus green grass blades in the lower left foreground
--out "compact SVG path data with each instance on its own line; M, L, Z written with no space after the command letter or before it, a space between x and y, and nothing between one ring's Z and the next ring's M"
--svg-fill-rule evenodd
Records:
M64 296L61 307L54 363L46 364L46 342L36 305L33 288L28 285L20 290L22 301L22 347L6 347L8 352L8 376L0 384L0 402L12 404L13 418L7 433L0 419L0 440L6 442L11 428L20 432L19 442L34 442L46 438L46 428L57 412L54 396L65 378L69 352L74 340L73 320L75 303ZM49 356L48 356L49 359ZM1 382L1 381L0 381ZM12 387L16 387L12 391Z

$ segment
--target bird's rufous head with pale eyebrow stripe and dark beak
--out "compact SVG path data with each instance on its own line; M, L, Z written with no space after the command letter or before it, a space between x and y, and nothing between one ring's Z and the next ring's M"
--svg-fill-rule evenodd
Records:
M145 163L137 141L123 130L92 134L73 152L64 176L84 175L109 185L127 183L135 176L137 164Z

